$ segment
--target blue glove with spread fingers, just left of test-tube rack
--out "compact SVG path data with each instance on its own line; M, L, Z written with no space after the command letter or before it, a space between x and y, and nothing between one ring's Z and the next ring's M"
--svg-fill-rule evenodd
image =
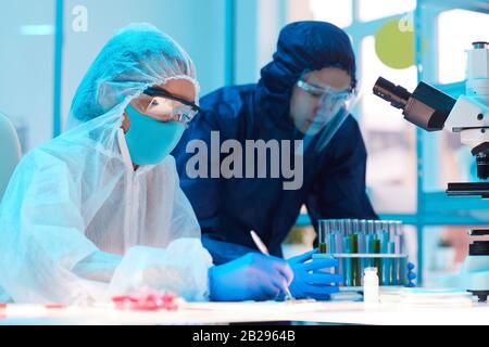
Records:
M338 285L331 285L331 283L343 281L340 274L312 273L314 270L338 265L338 260L334 258L313 260L312 256L315 253L317 253L317 248L288 260L293 270L293 281L289 290L294 298L329 299L330 294L338 292Z

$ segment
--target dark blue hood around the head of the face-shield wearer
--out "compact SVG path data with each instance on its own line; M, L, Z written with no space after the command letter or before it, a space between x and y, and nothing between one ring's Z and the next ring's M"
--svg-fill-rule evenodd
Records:
M290 98L293 86L305 70L338 67L348 72L356 86L355 56L350 38L326 22L296 22L278 37L273 61L261 70L256 105L261 115L272 116L279 127L290 128Z

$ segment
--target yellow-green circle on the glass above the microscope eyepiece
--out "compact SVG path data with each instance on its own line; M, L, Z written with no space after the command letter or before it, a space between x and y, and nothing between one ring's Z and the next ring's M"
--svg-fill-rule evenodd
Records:
M389 67L414 65L414 31L403 28L399 20L387 22L375 34L375 52Z

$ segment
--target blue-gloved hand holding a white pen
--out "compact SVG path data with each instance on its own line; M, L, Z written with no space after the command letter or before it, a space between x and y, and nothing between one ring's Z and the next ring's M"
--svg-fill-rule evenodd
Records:
M292 270L284 259L249 253L209 270L211 300L275 299L284 295L292 278Z

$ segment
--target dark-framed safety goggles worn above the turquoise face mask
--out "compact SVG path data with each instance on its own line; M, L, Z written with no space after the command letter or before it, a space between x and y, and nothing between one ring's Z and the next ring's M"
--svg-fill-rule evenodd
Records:
M143 95L136 99L136 106L148 116L161 121L180 121L188 124L201 108L183 98L176 97L163 89L148 88Z

